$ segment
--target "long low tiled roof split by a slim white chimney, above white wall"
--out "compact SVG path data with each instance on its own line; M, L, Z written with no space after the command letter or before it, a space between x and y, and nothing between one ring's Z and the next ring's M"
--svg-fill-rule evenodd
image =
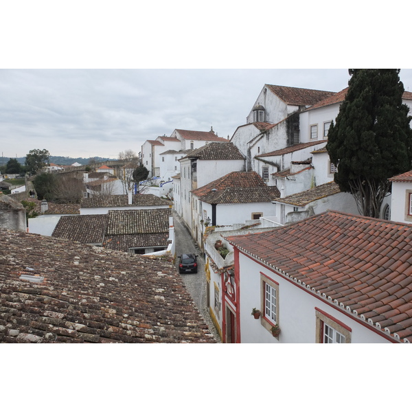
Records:
M155 196L154 194L133 194L132 206L168 206L172 202ZM109 196L95 196L92 198L83 198L80 202L81 208L89 207L127 207L127 194L112 194Z

